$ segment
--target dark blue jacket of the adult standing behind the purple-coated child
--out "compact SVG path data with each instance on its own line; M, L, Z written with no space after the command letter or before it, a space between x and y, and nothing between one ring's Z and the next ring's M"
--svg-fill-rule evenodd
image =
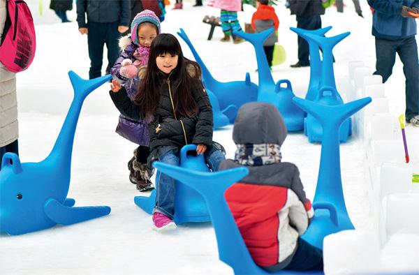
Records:
M78 0L77 22L79 28L87 27L87 22L112 23L129 27L131 19L130 0Z

